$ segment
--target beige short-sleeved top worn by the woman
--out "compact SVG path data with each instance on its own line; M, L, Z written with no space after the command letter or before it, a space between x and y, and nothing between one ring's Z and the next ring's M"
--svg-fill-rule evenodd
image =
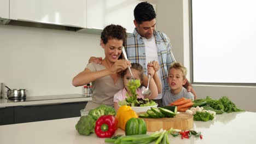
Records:
M86 68L91 71L106 69L104 65L95 63L89 63ZM94 109L100 104L113 106L114 94L124 88L124 82L120 76L117 82L114 83L112 77L107 75L93 81L92 86L92 101L89 101L85 109Z

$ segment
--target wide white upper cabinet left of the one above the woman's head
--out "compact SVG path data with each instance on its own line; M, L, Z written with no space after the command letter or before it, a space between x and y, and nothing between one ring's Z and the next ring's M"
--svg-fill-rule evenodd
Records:
M86 0L10 0L10 19L85 28Z

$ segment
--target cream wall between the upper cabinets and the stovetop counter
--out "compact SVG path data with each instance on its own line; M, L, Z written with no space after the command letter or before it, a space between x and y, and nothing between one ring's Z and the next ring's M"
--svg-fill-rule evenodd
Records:
M0 25L0 44L0 81L27 96L82 93L73 77L104 56L100 35L53 29Z

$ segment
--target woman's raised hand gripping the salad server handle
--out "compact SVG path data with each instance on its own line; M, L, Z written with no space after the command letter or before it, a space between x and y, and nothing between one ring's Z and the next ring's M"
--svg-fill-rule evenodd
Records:
M120 71L125 70L128 67L130 67L130 65L131 65L130 61L126 61L125 59L119 59L110 68L110 71L112 74L119 73Z

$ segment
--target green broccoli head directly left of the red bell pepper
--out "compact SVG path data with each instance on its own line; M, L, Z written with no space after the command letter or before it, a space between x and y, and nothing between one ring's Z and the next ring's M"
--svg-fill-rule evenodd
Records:
M82 116L77 124L75 124L75 129L77 129L80 135L90 135L95 133L95 122L94 118L90 115Z

